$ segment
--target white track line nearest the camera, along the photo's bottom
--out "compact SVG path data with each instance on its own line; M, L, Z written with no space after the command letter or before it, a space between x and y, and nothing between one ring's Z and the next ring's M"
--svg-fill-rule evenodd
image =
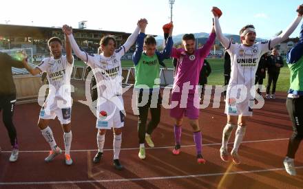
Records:
M301 169L303 166L297 166L296 169ZM118 181L147 181L147 180L162 180L162 179L187 179L196 177L211 177L220 175L236 175L236 174L249 174L249 173L264 173L269 171L285 170L285 168L269 168L260 170L244 170L229 173L208 173L199 175L183 175L183 176L169 176L169 177L145 177L137 179L105 179L105 180L84 180L84 181L43 181L43 182L0 182L1 185L41 185L41 184L90 184L90 183L105 183L105 182L118 182Z

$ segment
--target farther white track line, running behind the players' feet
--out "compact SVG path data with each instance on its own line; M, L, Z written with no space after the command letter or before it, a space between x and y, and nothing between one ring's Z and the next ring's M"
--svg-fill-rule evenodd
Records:
M269 139L269 140L249 140L244 141L242 143L254 143L254 142L273 142L278 140L289 140L289 138L278 138L278 139ZM229 142L229 144L233 144L233 142ZM202 146L216 146L221 145L221 143L211 143L211 144L202 144ZM182 148L187 147L195 147L196 145L187 145L181 146ZM163 149L163 148L174 148L175 146L161 146L161 147L154 147L154 148L147 148L147 149ZM121 148L121 151L133 151L138 150L139 148ZM93 150L74 150L71 152L88 152L88 151L97 151L97 149ZM104 149L103 151L113 151L113 149ZM49 151L19 151L19 153L48 153ZM12 153L11 151L2 151L2 153Z

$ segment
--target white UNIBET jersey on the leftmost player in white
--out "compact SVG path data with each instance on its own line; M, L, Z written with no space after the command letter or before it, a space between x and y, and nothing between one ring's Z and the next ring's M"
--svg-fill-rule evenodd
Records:
M52 56L44 58L37 66L42 72L47 73L50 91L46 102L50 105L50 110L58 108L58 100L63 101L63 107L72 106L70 77L73 65L74 60L70 64L67 62L66 56L61 56L58 59L54 59Z

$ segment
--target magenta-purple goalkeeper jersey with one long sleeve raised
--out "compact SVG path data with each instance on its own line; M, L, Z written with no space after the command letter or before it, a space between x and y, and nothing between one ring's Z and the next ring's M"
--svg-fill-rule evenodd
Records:
M171 57L178 59L173 93L182 93L183 85L186 82L189 82L188 85L194 86L194 88L189 87L188 93L198 93L198 87L196 86L199 82L200 71L204 65L204 59L209 55L215 39L216 34L211 33L205 45L196 49L194 54L187 54L184 49L172 49ZM176 90L176 86L179 87L180 91Z

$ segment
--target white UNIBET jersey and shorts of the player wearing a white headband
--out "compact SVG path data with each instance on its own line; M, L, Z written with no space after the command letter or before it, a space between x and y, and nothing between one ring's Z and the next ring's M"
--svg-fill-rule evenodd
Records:
M258 42L251 47L246 47L243 44L229 43L227 52L231 56L231 78L227 87L227 104L225 113L230 115L252 115L249 108L249 100L254 99L254 92L251 88L255 85L255 72L258 69L258 64L261 56L270 50L271 41ZM247 90L246 93L242 90ZM241 89L241 97L239 90ZM246 96L244 96L244 94ZM240 104L237 104L237 109L231 109L229 99L237 98Z

